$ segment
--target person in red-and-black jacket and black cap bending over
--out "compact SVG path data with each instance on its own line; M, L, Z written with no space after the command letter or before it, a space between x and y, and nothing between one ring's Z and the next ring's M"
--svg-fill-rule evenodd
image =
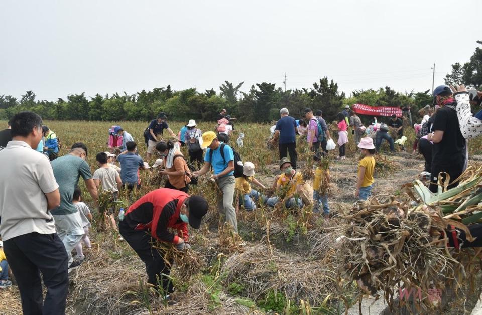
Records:
M165 253L152 244L157 240L176 244L179 250L191 248L187 224L199 229L208 208L201 196L160 188L142 196L119 221L119 233L146 264L147 282L156 287L162 285L166 299L174 291L168 277L171 270L164 261ZM177 230L177 235L168 228Z

